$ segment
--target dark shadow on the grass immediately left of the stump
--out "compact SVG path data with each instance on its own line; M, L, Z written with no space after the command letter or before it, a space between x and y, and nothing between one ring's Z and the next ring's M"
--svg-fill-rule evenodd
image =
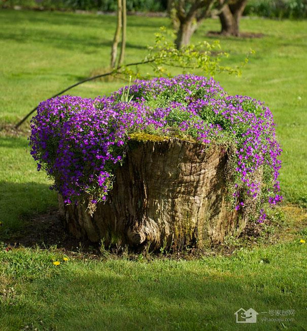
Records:
M0 182L0 241L7 245L41 248L57 245L75 250L91 245L65 229L58 212L57 193L48 184Z

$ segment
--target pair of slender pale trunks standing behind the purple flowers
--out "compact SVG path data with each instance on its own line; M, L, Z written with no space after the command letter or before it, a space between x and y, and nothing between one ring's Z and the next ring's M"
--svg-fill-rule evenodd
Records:
M126 30L127 30L127 7L126 0L118 0L117 1L117 25L116 31L114 34L113 44L111 48L111 68L120 67L122 65L124 56L125 56L125 48L126 48ZM118 63L116 65L117 58L117 47L119 44L120 35L121 38L121 46L120 46L120 55L118 59Z

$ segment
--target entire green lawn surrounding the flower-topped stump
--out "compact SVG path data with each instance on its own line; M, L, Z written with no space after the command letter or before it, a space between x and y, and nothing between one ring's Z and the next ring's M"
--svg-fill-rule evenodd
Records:
M115 23L114 16L0 10L0 123L16 123L39 101L107 67ZM166 18L128 17L126 63L146 54L163 25L169 25ZM192 42L213 41L207 32L219 29L209 19ZM1 331L306 330L307 246L299 240L307 240L307 22L242 19L241 29L264 36L221 38L230 53L227 64L239 64L250 48L256 54L242 77L215 78L229 93L261 99L273 112L285 199L273 212L282 215L276 221L281 230L266 229L279 233L276 240L240 245L229 238L236 245L230 256L189 261L82 252L63 261L68 253L55 247L7 251L0 245ZM94 97L123 84L91 81L70 94ZM57 201L46 176L36 171L27 137L2 132L0 148L1 242ZM258 322L236 324L240 307L255 309Z

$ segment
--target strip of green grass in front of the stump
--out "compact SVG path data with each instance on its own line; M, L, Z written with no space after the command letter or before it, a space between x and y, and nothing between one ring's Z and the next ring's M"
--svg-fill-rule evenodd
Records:
M1 252L0 277L13 275L16 285L3 299L0 325L3 331L31 323L46 330L304 330L306 253L297 241L232 258L150 263L63 262L53 252ZM259 313L256 325L235 323L240 307ZM261 322L270 317L261 312L289 309L294 321L282 322L284 327Z

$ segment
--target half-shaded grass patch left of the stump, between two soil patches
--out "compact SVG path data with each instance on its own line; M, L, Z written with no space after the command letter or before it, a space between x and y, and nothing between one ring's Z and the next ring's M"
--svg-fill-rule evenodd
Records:
M0 137L0 147L0 221L3 231L17 230L31 214L56 206L56 193L49 190L46 175L37 172L27 138Z

